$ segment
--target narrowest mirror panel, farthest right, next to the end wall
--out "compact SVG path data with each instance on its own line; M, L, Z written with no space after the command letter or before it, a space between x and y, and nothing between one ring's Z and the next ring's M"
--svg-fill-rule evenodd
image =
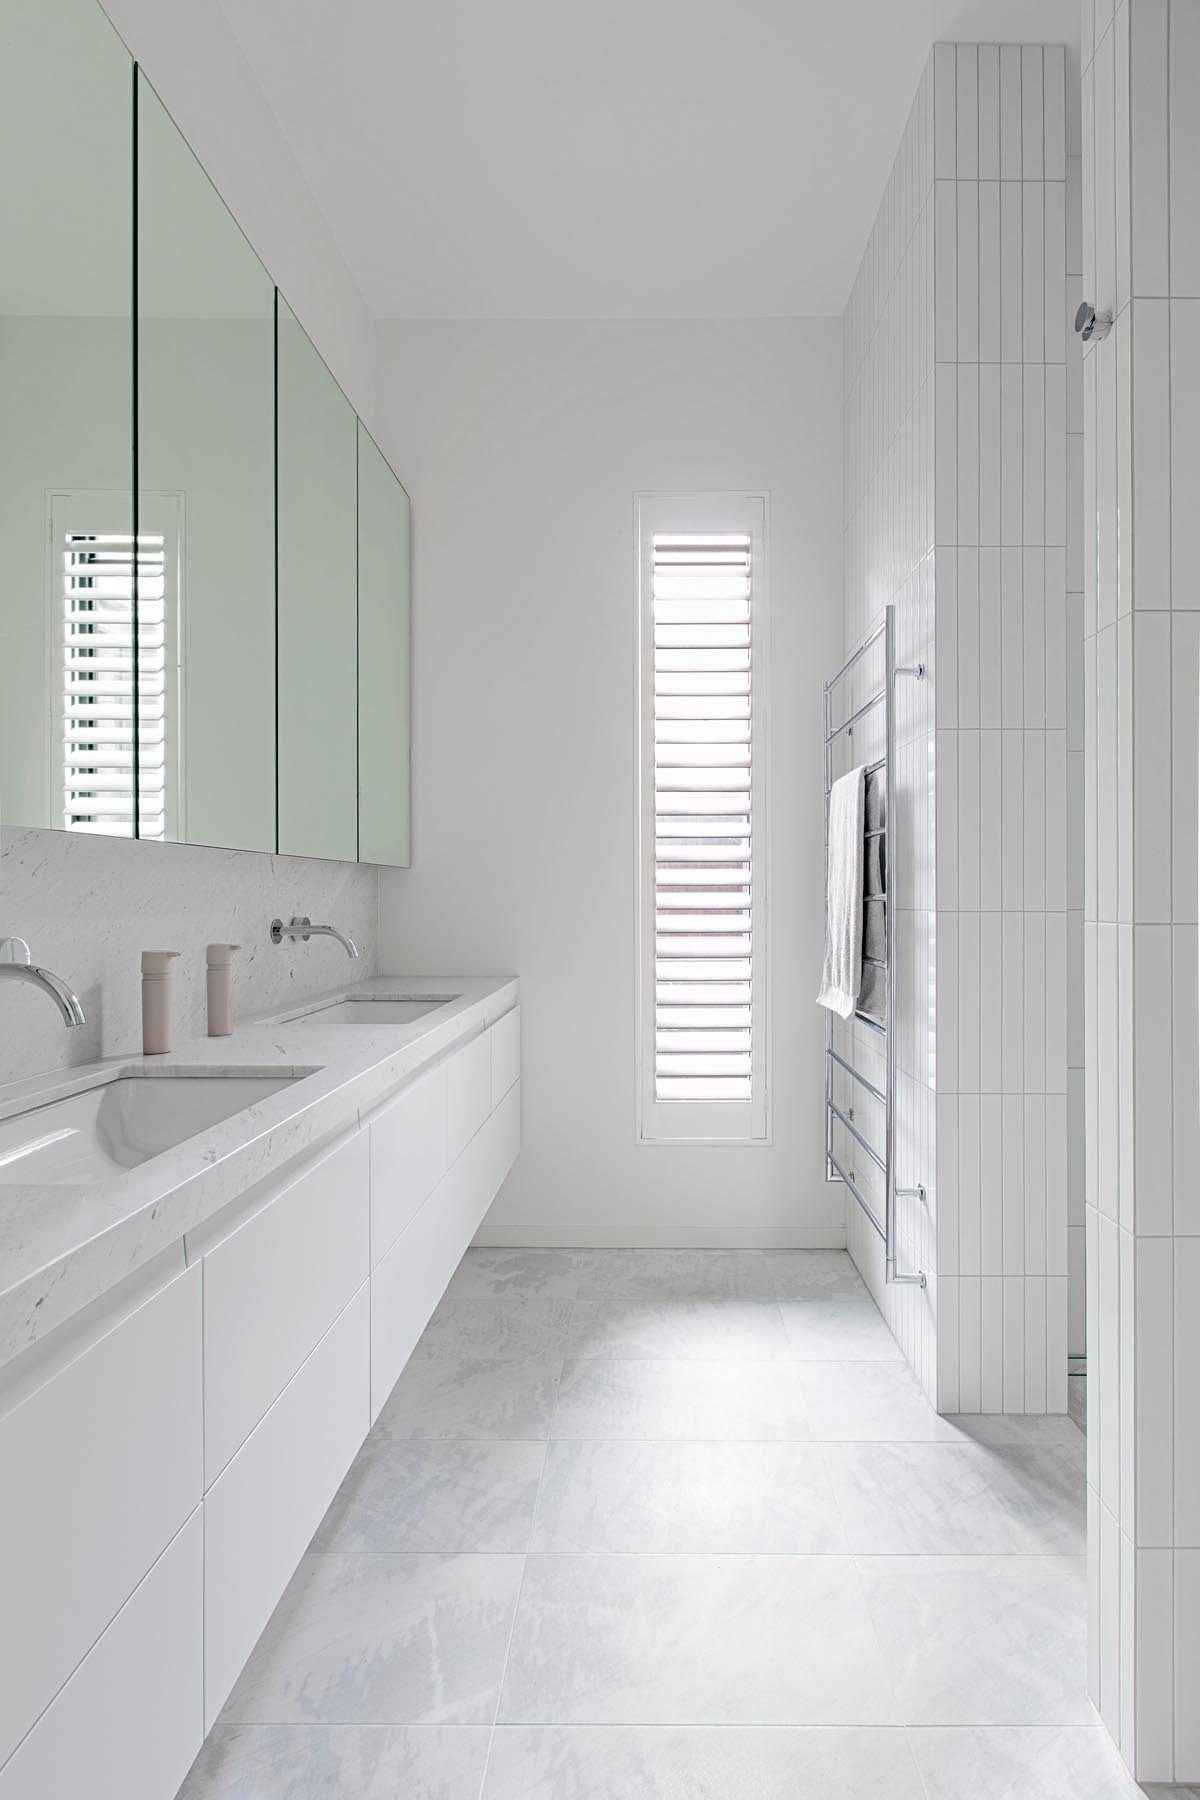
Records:
M358 855L408 868L408 495L358 421Z

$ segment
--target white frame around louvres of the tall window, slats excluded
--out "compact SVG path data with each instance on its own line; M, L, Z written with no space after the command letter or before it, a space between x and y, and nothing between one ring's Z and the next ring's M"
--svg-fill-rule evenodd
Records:
M768 1145L770 1107L770 497L639 493L637 556L637 1141ZM655 623L653 544L662 531L745 531L750 536L750 1100L655 1096Z

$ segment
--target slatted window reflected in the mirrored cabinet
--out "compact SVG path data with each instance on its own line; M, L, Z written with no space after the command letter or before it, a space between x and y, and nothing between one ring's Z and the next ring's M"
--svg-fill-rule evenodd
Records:
M133 536L79 529L83 511L86 504L56 497L54 812L68 832L162 839L178 779L167 535L144 531L139 540L135 727Z

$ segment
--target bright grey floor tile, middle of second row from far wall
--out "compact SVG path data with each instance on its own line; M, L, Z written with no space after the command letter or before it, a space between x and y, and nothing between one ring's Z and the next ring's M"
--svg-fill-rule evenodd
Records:
M576 1303L565 1355L572 1361L770 1363L788 1355L788 1339L774 1300L633 1300L619 1294Z

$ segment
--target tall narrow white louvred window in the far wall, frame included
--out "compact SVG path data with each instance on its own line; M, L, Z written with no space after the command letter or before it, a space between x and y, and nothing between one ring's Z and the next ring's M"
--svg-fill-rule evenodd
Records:
M640 1134L763 1138L765 502L639 513Z

